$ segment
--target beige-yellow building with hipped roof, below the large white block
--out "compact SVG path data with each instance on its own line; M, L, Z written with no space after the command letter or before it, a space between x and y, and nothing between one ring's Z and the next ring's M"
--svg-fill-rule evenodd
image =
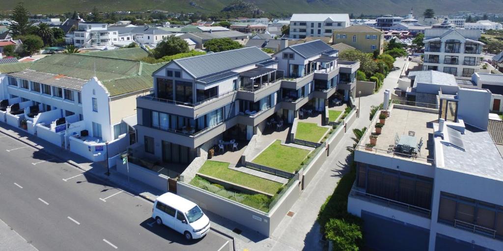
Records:
M363 52L383 52L384 35L380 30L364 25L333 31L333 44L344 43Z

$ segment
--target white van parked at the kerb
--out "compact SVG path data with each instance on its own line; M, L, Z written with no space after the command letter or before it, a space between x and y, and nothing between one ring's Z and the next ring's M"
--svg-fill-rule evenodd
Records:
M210 219L196 203L174 193L165 193L154 202L152 218L157 225L166 225L184 234L185 238L198 239L210 230Z

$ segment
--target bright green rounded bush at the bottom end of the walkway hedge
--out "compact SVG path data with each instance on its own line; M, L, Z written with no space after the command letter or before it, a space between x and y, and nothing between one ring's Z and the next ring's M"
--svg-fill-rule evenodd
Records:
M360 250L363 234L359 224L332 218L326 223L325 232L326 238L333 241L333 250Z

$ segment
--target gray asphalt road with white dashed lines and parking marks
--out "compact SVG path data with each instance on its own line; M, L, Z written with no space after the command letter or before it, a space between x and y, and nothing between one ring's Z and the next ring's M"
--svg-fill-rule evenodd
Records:
M0 134L0 219L37 249L231 250L212 231L186 241L151 213L151 202Z

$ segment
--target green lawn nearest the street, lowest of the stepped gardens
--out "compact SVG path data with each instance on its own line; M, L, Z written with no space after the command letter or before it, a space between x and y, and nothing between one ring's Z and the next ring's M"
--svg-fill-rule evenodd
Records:
M283 185L254 175L229 169L229 163L207 160L199 173L209 175L238 185L250 187L270 194L276 194Z

